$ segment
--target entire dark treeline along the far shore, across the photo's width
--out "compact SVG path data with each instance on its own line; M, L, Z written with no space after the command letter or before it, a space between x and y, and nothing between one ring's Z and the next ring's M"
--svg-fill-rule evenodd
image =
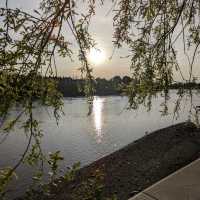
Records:
M32 87L34 87L35 93L32 95L37 98L37 96L40 94L40 90L44 88L46 85L52 81L57 82L57 89L63 94L64 97L78 97L78 96L84 96L84 85L85 81L83 79L73 79L71 77L43 77L43 76L36 76L35 84L32 85L32 82L29 81L29 78L27 76L19 76L17 74L12 73L0 73L1 79L4 80L0 84L0 97L1 94L4 95L2 92L2 88L4 88L4 84L18 84L19 85L19 92L18 95L20 96L21 88L26 88L27 91L29 91ZM20 77L20 78L19 78ZM129 76L114 76L111 79L105 79L105 78L96 78L93 81L95 93L94 95L98 96L106 96L106 95L120 95L123 92L123 89L132 81L132 79ZM37 83L37 84L36 84ZM134 81L132 81L132 84L134 84ZM156 87L155 87L156 88ZM200 89L200 83L197 83L196 80L193 80L192 82L175 82L171 84L170 89ZM33 88L32 88L33 89ZM56 89L56 88L55 88ZM160 90L159 88L156 88L156 90ZM44 92L44 91L43 91ZM21 96L23 96L21 94Z

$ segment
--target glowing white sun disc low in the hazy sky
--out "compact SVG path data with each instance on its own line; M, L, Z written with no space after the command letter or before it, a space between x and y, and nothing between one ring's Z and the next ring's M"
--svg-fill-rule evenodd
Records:
M105 61L105 51L100 49L92 48L88 53L88 60L95 65L99 65Z

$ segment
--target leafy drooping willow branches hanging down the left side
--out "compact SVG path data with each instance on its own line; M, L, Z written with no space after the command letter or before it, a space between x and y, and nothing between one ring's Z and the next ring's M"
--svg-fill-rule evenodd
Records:
M92 99L92 75L86 52L94 45L88 33L90 17L94 14L94 1L86 2L88 12L78 15L75 1L41 1L32 14L21 9L0 8L0 117L1 129L9 132L26 115L23 123L28 143L23 156L9 169L0 171L0 192L22 162L37 164L45 160L41 149L42 131L34 118L33 102L54 108L54 116L62 113L62 95L51 76L57 75L56 57L71 59L70 36L79 47L81 72L85 76L85 93ZM69 35L63 35L63 29ZM22 111L12 121L9 111L20 105ZM5 122L5 123L4 123Z

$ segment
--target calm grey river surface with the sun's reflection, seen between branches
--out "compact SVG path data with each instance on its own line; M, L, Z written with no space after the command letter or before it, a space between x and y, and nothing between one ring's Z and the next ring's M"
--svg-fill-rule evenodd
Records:
M90 116L85 98L64 99L65 115L56 125L49 108L35 106L34 116L41 122L44 131L42 147L45 152L61 151L65 157L61 168L80 161L87 165L106 156L121 147L137 140L148 132L182 122L188 119L189 99L182 102L182 110L178 119L173 118L176 91L172 91L168 102L169 115L161 117L162 97L153 99L151 112L144 107L139 110L127 110L128 98L119 96L95 97ZM199 96L194 95L193 103L198 105ZM12 111L15 116L19 108ZM2 135L0 136L0 139ZM17 162L25 149L27 139L23 130L16 128L0 145L0 168ZM13 196L24 192L30 184L32 169L21 166L19 179L14 182Z

